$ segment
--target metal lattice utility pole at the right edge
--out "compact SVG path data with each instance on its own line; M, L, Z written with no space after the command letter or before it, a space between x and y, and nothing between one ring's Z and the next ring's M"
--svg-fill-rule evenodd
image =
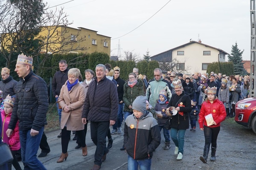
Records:
M250 97L255 97L256 95L256 88L255 88L255 80L256 80L256 75L255 75L255 66L256 66L256 61L255 61L255 54L256 54L256 49L255 49L255 42L256 42L256 32L255 32L255 27L256 27L256 22L255 22L255 0L250 0L250 13L251 13L251 74L250 74Z

